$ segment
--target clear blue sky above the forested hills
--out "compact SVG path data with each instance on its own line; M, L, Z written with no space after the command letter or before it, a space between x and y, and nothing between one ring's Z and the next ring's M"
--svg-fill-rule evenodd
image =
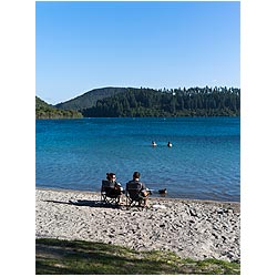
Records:
M239 2L37 2L35 94L240 88Z

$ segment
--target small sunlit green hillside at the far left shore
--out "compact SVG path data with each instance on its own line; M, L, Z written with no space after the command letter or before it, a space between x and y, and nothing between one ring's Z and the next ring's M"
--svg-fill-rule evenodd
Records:
M82 114L76 111L57 109L35 96L35 119L79 119Z

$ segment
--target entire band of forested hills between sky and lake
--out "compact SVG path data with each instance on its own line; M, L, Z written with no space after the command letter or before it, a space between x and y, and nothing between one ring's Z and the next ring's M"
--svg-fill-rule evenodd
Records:
M226 86L171 90L103 88L55 106L40 101L38 119L240 115L240 89Z

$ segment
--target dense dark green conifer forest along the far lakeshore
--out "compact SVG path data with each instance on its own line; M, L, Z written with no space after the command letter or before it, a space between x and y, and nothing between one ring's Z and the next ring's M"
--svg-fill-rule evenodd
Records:
M85 117L119 116L239 116L240 89L191 88L172 90L133 89L103 98Z

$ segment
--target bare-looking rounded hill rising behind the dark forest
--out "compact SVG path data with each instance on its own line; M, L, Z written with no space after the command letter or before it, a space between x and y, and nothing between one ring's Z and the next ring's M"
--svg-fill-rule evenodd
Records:
M125 93L127 89L125 88L102 88L85 92L84 94L71 99L69 101L59 103L55 105L58 109L62 110L74 110L82 111L84 109L90 109L96 105L99 100L115 95L117 93Z

